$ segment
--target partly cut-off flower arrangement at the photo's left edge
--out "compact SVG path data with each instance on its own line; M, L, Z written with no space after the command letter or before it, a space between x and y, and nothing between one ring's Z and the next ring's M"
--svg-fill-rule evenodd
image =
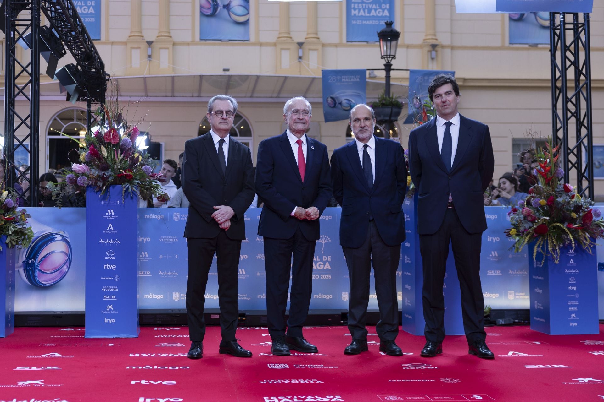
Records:
M24 209L17 210L19 199L13 189L4 187L4 181L0 187L0 236L6 236L8 248L27 247L34 237L33 230L27 225L31 215Z

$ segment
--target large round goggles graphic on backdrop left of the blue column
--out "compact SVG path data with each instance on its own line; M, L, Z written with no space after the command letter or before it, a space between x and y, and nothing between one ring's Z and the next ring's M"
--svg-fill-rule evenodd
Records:
M69 235L29 219L34 238L27 248L17 248L16 269L25 283L48 287L61 281L69 272L73 252Z

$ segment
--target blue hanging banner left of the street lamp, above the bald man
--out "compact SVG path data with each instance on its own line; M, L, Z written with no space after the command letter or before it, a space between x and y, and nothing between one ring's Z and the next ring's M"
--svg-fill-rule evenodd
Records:
M323 70L325 122L348 120L350 109L367 101L365 70Z

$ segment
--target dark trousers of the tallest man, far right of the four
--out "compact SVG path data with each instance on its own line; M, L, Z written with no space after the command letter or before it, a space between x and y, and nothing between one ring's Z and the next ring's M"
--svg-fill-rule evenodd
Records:
M467 342L472 344L475 341L484 341L484 298L480 284L482 233L468 233L455 208L447 209L443 224L436 233L419 236L423 262L422 301L426 340L441 343L445 339L443 280L449 242L461 287L461 314Z

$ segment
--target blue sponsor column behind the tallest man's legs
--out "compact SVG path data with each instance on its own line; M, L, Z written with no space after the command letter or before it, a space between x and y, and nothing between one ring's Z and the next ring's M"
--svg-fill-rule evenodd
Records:
M419 250L419 234L417 234L417 195L405 198L403 203L405 213L405 230L407 239L401 246L402 254L402 328L414 335L423 335L426 321L423 319L422 308L422 254ZM445 297L445 331L448 335L463 335L461 320L461 291L455 260L451 246L446 263L445 281L443 284Z

